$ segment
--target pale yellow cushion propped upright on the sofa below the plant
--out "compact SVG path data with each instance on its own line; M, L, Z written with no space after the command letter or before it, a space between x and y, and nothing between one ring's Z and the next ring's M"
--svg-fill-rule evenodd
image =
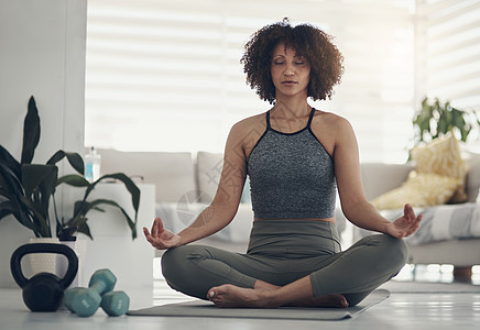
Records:
M461 158L460 146L454 134L435 139L428 144L418 145L412 150L412 160L417 173L433 173L459 179L459 186L450 202L467 200L465 179L467 166Z

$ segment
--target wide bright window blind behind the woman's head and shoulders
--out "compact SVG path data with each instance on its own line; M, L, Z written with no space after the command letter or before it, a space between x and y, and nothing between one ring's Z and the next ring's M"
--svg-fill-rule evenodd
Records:
M222 152L231 125L266 111L239 59L249 36L288 16L335 36L346 74L332 100L363 162L404 162L414 109L413 1L90 0L90 146Z

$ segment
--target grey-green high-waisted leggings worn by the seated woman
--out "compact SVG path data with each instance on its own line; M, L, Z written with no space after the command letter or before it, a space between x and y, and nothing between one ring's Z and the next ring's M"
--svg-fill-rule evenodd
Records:
M170 249L162 256L168 285L207 298L218 285L253 288L257 279L284 286L309 276L316 297L342 294L354 306L395 276L407 257L403 240L363 238L341 252L335 223L317 220L255 220L247 254L205 245Z

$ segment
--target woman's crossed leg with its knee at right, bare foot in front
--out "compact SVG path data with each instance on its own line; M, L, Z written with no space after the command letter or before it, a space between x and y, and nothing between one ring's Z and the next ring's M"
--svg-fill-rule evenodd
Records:
M326 267L285 286L272 286L261 280L257 280L253 288L221 285L212 287L207 296L219 307L310 306L346 308L350 304L351 306L357 305L375 287L396 275L405 264L406 255L406 245L402 240L383 234L372 235L338 254L339 257ZM343 280L339 283L339 280L335 280L336 277L343 278ZM356 282L354 277L363 279L353 283ZM319 278L326 283L319 285ZM314 286L316 286L316 292ZM350 294L330 294L330 292L342 292L340 287ZM319 294L321 290L327 294Z

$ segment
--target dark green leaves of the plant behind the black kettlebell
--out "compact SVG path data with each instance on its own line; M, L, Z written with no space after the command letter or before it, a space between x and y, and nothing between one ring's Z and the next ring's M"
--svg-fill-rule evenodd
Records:
M87 224L87 213L100 210L101 205L118 208L124 216L132 239L137 238L137 216L140 205L140 189L123 173L108 174L94 183L84 178L84 161L77 153L57 151L46 164L32 164L35 147L40 141L40 118L33 97L30 98L28 113L23 127L23 144L21 161L18 162L0 145L0 220L12 215L22 226L32 230L36 238L52 238L53 215L56 223L55 235L62 240L70 240L76 233L92 235ZM77 174L58 177L57 163L66 158ZM132 197L134 219L110 199L88 200L95 186L103 179L117 179L124 184ZM72 217L58 217L55 191L59 185L85 188L83 198L75 202Z

